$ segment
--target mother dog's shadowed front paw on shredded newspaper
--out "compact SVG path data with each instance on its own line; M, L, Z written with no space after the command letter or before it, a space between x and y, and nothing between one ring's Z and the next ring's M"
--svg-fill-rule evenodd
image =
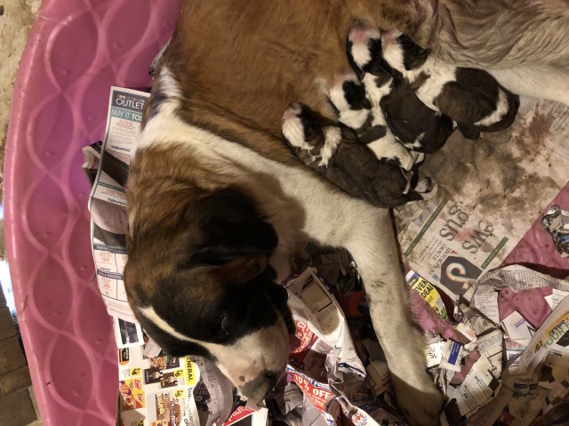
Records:
M437 426L443 411L445 398L431 382L427 386L413 387L397 376L391 376L395 389L397 406L410 426Z

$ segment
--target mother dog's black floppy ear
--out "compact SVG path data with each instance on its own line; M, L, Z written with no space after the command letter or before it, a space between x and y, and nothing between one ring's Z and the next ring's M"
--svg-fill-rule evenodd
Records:
M268 255L278 242L251 200L236 188L220 189L188 206L193 264L224 265L242 256Z

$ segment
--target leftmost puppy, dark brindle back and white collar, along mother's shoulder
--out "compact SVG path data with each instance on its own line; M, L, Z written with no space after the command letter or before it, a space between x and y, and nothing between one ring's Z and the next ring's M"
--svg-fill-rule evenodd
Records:
M322 123L306 105L293 103L284 110L284 141L305 165L351 196L397 207L437 194L435 181L379 161L351 129Z

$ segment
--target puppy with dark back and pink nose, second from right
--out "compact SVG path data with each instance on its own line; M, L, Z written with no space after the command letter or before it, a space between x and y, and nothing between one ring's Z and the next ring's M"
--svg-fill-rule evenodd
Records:
M427 154L445 145L453 133L453 121L429 109L389 67L381 54L381 33L367 21L354 23L346 45L349 61L365 85L374 93L387 126L405 148Z

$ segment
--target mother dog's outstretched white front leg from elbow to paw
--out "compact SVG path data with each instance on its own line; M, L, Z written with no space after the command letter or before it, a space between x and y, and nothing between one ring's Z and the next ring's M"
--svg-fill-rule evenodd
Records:
M376 210L366 219L359 221L346 248L364 279L373 328L388 361L397 404L411 425L437 425L443 396L426 370L426 343L413 324L389 211Z

